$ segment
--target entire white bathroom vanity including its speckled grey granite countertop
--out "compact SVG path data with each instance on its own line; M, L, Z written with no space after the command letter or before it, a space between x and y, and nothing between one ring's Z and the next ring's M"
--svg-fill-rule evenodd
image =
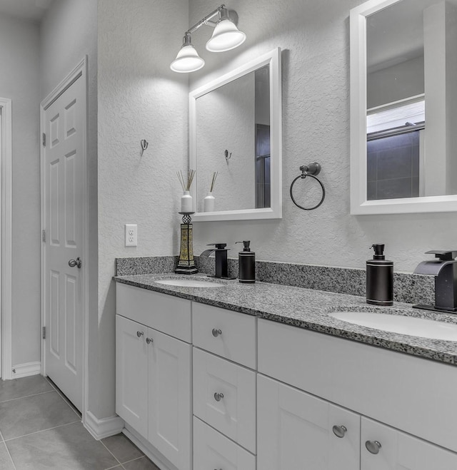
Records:
M116 412L159 468L457 468L457 342L328 313L455 317L261 282L157 282L164 277L116 277Z

